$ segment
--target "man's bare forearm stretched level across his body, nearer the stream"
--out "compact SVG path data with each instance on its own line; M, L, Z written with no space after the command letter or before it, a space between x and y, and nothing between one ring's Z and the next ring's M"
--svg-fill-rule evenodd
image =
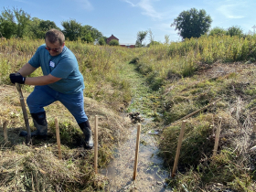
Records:
M40 76L35 78L26 78L25 84L27 85L48 85L50 83L54 83L58 80L61 80L61 78L56 78L52 76L51 74L48 74L46 76Z

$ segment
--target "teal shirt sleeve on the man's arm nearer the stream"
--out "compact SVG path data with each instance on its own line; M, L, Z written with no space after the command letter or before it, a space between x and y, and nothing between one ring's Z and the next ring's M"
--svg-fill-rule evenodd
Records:
M56 78L66 79L78 67L75 59L61 59L55 69L51 71L51 75Z

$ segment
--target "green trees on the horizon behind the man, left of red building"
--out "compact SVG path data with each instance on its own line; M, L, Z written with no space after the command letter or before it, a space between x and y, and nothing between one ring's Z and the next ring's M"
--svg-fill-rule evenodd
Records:
M104 37L98 29L81 25L75 19L62 21L61 26L62 30L54 21L31 17L24 10L15 7L12 9L4 7L0 15L0 37L7 39L11 37L44 38L49 29L56 28L61 30L70 41L78 39L87 43L98 41L102 45L106 42L107 37Z

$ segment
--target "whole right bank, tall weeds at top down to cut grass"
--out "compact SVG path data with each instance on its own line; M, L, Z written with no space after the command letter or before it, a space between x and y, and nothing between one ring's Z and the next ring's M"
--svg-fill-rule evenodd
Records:
M160 154L174 165L181 119L218 98L187 120L174 191L255 191L255 36L209 36L141 49L131 61L151 89L163 133ZM250 62L249 62L250 61ZM212 156L219 117L218 154Z

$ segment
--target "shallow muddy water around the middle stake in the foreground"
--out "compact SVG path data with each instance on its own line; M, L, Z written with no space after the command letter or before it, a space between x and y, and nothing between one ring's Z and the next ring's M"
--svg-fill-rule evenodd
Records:
M133 166L137 124L133 124L131 127L132 132L128 140L116 149L111 164L100 171L101 175L109 178L109 184L105 191L172 191L165 184L169 170L163 167L163 159L157 156L158 148L155 140L157 135L149 134L148 126L150 124L151 119L146 119L141 126L142 133L135 181L133 181Z

